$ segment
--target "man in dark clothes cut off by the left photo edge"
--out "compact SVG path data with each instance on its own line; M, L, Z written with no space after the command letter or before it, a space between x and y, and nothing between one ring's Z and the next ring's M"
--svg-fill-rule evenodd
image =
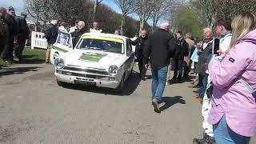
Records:
M2 54L2 50L4 46L6 46L7 37L9 35L8 25L5 19L6 9L0 7L0 54ZM0 66L1 69L1 66Z

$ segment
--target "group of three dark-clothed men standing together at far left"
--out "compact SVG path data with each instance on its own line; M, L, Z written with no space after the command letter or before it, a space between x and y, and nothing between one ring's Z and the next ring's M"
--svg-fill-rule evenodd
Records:
M22 59L22 51L30 35L26 16L24 12L17 16L12 6L8 11L0 7L0 54L7 64Z

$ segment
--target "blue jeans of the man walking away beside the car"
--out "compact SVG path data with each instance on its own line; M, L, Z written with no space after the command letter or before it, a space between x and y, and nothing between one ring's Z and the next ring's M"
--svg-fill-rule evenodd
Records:
M162 93L166 87L167 66L152 67L152 99L162 102Z

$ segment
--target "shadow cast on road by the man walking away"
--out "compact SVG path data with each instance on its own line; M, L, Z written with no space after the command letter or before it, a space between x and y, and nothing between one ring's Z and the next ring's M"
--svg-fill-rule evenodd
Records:
M186 101L182 99L182 96L174 96L174 97L163 97L162 101L165 103L163 106L160 107L160 110L166 110L170 106L173 106L177 103L186 104Z

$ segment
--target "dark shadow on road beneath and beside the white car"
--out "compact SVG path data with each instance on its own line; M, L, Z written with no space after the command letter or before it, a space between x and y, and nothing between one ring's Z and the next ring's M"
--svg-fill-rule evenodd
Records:
M116 90L103 88L103 87L91 87L91 86L81 86L81 85L66 85L65 88L72 89L72 90L82 90L88 91L92 93L99 93L99 94L111 94L111 95L119 95L119 96L129 96L133 94L134 91L137 89L138 84L141 82L139 78L139 74L136 71L133 71L130 74L130 77L126 80L124 90L122 90L122 94L118 94Z

